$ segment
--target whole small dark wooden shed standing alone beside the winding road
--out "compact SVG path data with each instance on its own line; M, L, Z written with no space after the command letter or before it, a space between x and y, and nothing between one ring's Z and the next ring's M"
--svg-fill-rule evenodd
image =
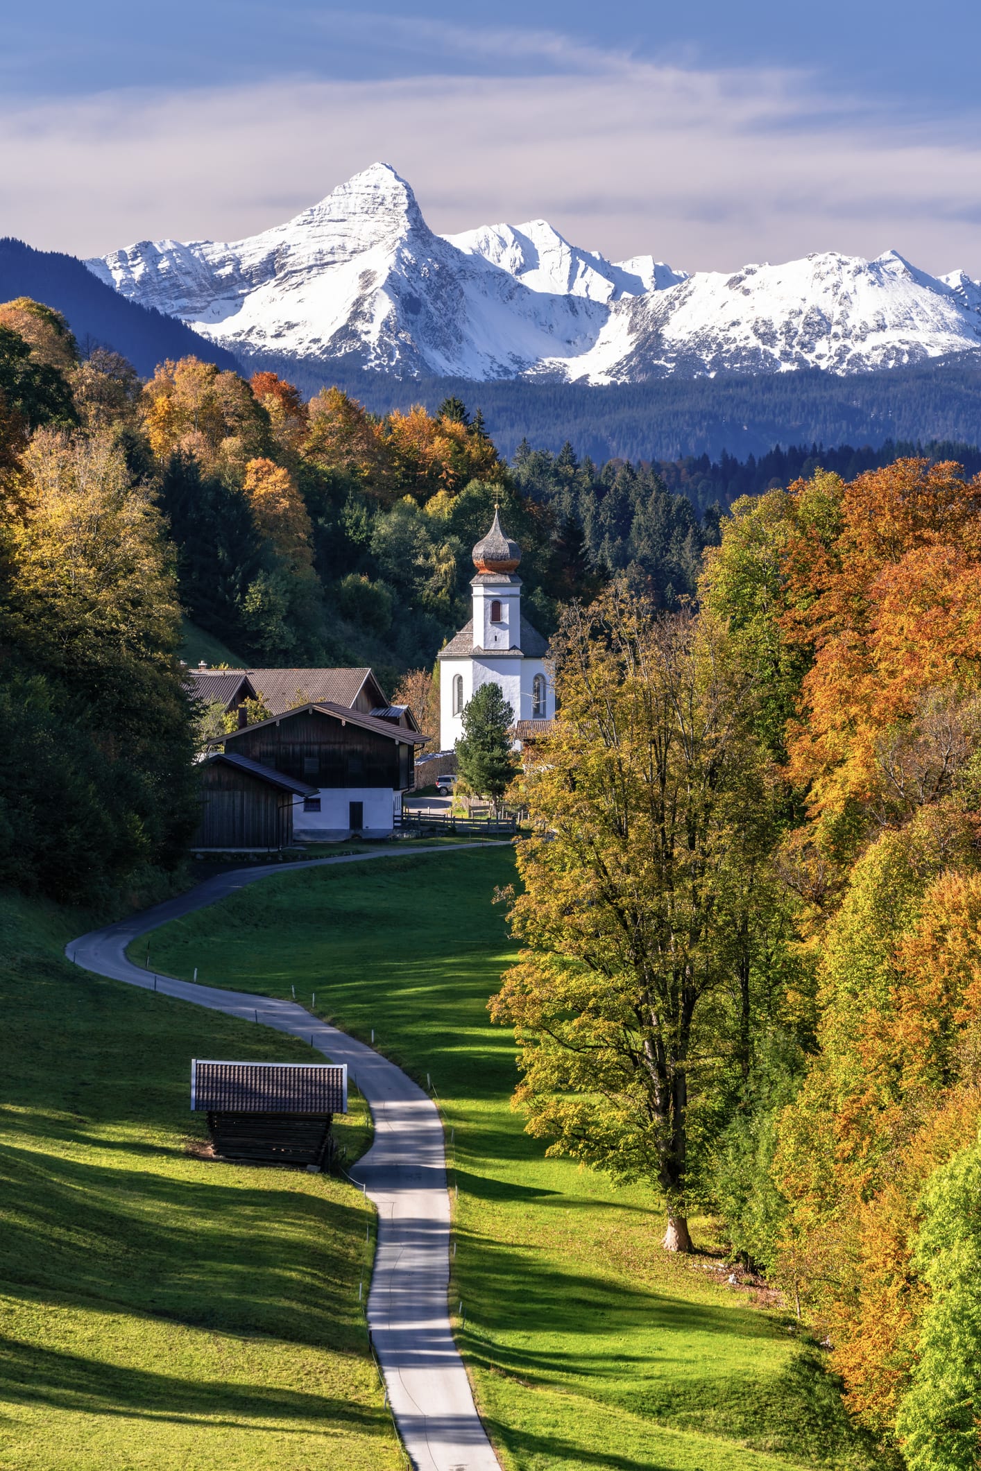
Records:
M347 1068L322 1062L191 1062L191 1112L222 1159L322 1167L347 1114Z

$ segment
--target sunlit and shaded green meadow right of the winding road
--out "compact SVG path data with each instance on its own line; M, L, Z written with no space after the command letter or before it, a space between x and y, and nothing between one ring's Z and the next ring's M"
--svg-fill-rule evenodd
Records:
M453 1130L452 1305L507 1467L763 1471L869 1465L818 1350L665 1258L641 1189L546 1159L509 1108L509 1033L487 997L510 958L496 884L507 849L393 858L263 880L157 931L156 964L310 1002L425 1081Z

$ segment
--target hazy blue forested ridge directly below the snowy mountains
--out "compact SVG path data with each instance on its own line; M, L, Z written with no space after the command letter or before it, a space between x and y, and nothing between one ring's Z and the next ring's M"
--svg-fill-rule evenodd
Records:
M429 412L446 397L481 409L487 432L510 459L522 438L557 453L569 440L579 457L677 460L722 453L746 460L774 444L871 444L949 440L981 443L981 356L838 378L812 372L753 378L662 378L593 388L565 382L397 380L377 372L256 362L281 371L304 394L337 384L372 413Z

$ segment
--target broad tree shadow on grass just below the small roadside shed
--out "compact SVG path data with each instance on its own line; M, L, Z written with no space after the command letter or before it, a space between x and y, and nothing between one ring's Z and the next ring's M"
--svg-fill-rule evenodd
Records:
M312 1346L360 1342L350 1284L363 1211L201 1174L0 1149L0 1269L12 1283L188 1324L260 1327Z

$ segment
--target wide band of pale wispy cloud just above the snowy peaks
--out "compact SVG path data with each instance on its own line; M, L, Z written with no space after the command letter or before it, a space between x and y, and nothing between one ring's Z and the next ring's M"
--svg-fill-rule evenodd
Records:
M462 44L438 29L444 51ZM894 246L927 269L981 274L977 128L897 125L777 69L654 65L550 32L479 44L537 47L538 72L0 107L0 229L82 254L235 238L385 159L446 232L546 216L587 249L685 269Z

